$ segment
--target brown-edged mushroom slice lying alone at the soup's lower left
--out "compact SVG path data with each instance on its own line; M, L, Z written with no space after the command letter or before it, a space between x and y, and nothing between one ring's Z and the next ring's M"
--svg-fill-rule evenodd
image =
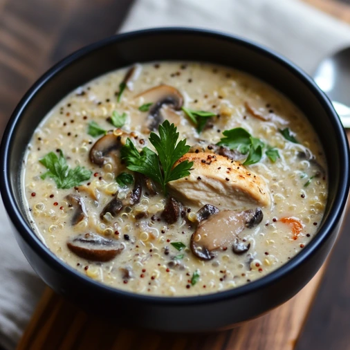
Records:
M95 233L71 237L67 241L67 246L78 257L91 261L109 261L124 249L122 243Z

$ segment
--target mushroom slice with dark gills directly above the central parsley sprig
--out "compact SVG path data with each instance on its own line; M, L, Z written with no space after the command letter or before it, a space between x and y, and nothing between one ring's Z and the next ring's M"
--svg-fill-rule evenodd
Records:
M168 119L169 122L174 122L172 119L177 116L174 111L179 111L183 107L183 95L181 95L180 91L169 85L156 86L136 96L136 98L139 97L142 97L145 103L152 103L146 119L145 132L157 131L158 126L165 119ZM163 108L165 106L167 108Z

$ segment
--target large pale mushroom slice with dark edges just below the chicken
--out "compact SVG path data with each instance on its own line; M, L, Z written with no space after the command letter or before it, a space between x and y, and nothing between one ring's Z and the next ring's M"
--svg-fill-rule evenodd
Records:
M228 248L234 244L245 228L258 225L262 217L260 208L221 210L199 224L191 237L191 250L196 257L210 260L214 257L215 250Z

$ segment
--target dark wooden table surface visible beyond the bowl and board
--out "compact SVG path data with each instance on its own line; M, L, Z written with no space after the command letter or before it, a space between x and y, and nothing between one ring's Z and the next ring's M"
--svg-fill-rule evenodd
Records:
M350 0L304 1L350 23ZM73 50L115 33L132 3L0 0L0 130L39 75ZM297 350L350 349L349 229L347 216Z

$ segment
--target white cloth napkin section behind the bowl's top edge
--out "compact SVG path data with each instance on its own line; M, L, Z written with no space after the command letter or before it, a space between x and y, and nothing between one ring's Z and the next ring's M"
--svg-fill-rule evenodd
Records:
M298 0L139 0L121 31L160 26L222 30L281 53L308 73L350 45L350 26Z

